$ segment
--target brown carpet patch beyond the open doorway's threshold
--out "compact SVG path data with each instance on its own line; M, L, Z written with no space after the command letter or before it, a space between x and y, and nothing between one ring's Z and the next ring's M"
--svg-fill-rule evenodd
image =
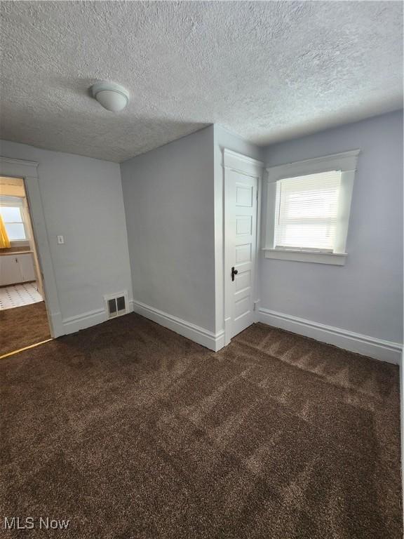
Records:
M0 311L0 356L50 339L45 302Z

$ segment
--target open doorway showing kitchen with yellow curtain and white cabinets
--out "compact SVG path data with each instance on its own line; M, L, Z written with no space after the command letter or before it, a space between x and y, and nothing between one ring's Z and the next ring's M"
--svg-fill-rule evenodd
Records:
M24 180L0 176L0 357L50 339Z

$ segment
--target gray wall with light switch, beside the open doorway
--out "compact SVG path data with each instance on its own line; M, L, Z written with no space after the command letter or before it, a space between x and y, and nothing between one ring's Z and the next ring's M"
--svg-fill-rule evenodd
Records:
M39 189L62 319L104 307L103 295L132 297L119 165L0 141L0 154L39 161ZM58 245L57 235L65 236Z

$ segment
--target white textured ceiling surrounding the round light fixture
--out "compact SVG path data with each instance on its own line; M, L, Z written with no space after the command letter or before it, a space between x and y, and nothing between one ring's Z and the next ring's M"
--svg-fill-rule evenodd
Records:
M259 145L398 109L402 4L8 2L1 138L123 161L211 123ZM123 112L88 93L123 84Z

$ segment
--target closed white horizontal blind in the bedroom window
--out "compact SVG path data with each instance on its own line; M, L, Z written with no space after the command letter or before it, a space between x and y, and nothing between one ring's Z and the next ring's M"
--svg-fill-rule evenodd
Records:
M341 172L278 180L274 247L333 252Z

